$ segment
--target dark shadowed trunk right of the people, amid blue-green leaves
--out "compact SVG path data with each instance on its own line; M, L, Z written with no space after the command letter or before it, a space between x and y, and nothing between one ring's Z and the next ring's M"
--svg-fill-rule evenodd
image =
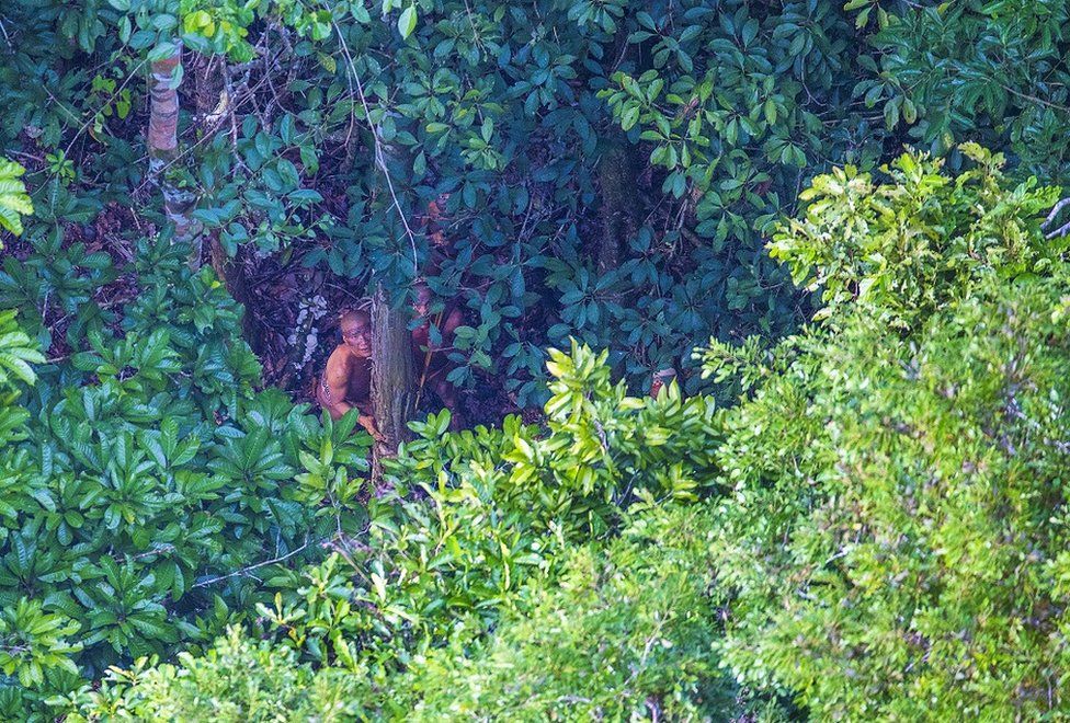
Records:
M638 169L635 147L623 135L615 134L599 160L602 233L594 249L594 261L600 272L621 264L623 245L639 231Z

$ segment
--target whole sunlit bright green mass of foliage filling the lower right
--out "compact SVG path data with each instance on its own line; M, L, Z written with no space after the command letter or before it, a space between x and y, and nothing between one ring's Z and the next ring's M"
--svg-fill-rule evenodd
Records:
M743 394L733 409L675 390L631 400L590 352L555 354L548 432L511 421L439 444L443 420L416 425L422 439L395 473L430 480L426 496L384 502L389 517L373 506L367 549L301 573L291 585L304 600L280 594L272 659L285 666L246 687L231 661L269 649L232 633L209 657L115 673L69 704L90 716L255 719L281 699L345 701L332 709L343 719L781 720L797 714L785 697L816 718L1061 714L1067 267L1039 228L1049 192L1010 185L995 159L966 151L979 163L957 177L914 156L857 197L821 195L843 174L816 182L781 253L832 260L813 273L855 294L769 351L710 347L707 372ZM925 204L954 222L931 226ZM880 223L809 232L876 207L918 253L852 267L841 252L887 243ZM956 248L984 252L949 273ZM887 285L864 292L875 273ZM907 314L888 288L914 289L929 313ZM681 443L674 458L690 450L704 500L673 502L659 475L631 471L634 495L610 477L593 497L619 512L594 514L591 497L555 505L558 490L584 500L569 485L592 469L562 477L555 450L583 458L600 447L581 434L594 420L630 433L607 441L634 439L629 421L651 427L672 409L693 410L659 426ZM593 469L659 454L649 440L629 449L608 443ZM521 460L536 450L550 454L528 472ZM297 655L331 665L314 672ZM218 684L196 682L217 668Z

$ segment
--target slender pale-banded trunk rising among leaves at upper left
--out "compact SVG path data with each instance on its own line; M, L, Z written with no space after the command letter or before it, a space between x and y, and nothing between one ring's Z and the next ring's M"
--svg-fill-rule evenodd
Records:
M175 241L191 241L195 232L193 206L195 198L169 179L168 165L179 154L179 69L182 67L182 46L174 53L155 60L149 70L149 172L157 177L163 193L163 211L174 223Z

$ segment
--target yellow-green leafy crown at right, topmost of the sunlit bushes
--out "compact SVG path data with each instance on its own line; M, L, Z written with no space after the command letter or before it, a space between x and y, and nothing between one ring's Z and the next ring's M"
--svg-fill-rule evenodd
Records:
M977 168L954 179L941 173L943 163L906 154L887 169L886 183L847 167L802 192L805 217L782 228L771 253L797 284L821 289L819 318L850 302L909 328L992 273L1048 273L1067 242L1038 233L1036 216L1058 190L1029 179L1006 191L1001 154L972 144L961 150Z

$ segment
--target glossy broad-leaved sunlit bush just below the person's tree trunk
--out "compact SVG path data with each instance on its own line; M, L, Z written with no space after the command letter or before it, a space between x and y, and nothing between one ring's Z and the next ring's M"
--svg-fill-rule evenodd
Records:
M571 546L614 532L634 504L693 501L714 477L710 400L627 397L605 354L551 353L547 433L509 417L500 429L447 433L448 413L389 474L394 493L368 502L355 547L304 573L261 606L288 644L320 662L409 661L459 624L473 635L522 604L530 579L553 578Z

